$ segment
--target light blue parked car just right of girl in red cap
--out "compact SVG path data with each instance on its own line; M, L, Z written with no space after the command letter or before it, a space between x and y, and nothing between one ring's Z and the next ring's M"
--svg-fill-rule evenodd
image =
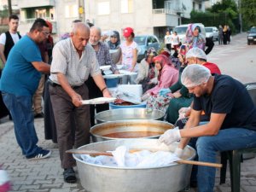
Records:
M138 45L138 62L142 61L143 58L145 58L148 48L153 47L156 51L160 49L160 41L154 35L137 35L133 40Z

